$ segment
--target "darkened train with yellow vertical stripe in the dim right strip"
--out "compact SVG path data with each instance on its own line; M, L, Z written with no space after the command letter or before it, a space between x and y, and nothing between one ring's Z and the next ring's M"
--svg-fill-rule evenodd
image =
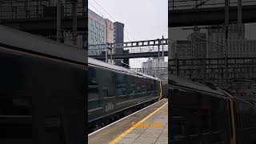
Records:
M169 142L256 144L256 106L210 83L169 76Z

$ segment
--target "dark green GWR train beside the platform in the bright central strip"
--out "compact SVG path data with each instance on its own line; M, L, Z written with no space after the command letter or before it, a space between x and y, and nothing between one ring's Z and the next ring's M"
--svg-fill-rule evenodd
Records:
M106 126L162 98L159 78L93 58L88 59L88 64L89 130Z

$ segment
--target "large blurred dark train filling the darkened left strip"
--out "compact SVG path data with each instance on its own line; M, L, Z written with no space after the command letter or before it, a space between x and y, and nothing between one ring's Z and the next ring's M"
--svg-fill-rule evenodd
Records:
M0 143L86 143L86 51L0 26Z

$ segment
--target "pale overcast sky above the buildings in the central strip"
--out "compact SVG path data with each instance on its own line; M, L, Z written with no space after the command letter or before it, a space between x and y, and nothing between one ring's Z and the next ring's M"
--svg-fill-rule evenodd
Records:
M125 42L168 37L167 0L89 0L89 9L112 22L124 23ZM142 67L146 59L130 59L130 66Z

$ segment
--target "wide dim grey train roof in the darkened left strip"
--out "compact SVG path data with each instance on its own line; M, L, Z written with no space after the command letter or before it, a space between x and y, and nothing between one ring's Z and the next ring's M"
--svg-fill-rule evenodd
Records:
M86 50L2 25L0 25L0 46L11 46L18 48L18 50L32 51L75 62L87 63Z

